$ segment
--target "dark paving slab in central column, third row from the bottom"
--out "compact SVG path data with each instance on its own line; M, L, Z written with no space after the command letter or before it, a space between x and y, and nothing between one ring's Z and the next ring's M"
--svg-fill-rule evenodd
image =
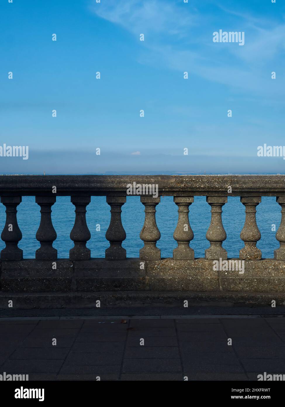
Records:
M174 346L127 347L126 358L179 358L179 348Z

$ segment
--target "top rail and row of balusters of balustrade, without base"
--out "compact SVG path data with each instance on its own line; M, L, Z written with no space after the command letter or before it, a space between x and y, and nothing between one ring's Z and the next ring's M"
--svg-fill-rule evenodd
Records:
M90 249L86 247L91 235L86 223L86 207L91 196L105 195L111 207L111 221L106 232L110 247L106 249L107 260L126 259L126 250L122 241L126 239L121 212L126 202L128 185L157 185L157 196L141 195L145 206L145 222L140 233L144 247L140 249L141 260L160 260L160 249L156 247L160 232L155 221L155 207L161 195L172 195L178 206L178 223L174 231L177 247L173 251L173 260L194 260L194 250L189 243L193 232L189 224L189 206L195 195L205 195L211 206L211 223L206 234L210 247L205 250L205 259L227 259L222 247L226 232L222 225L222 206L228 196L240 196L245 206L246 220L241 230L244 248L240 250L241 260L260 260L261 251L256 247L261 238L257 227L256 206L261 196L276 196L282 207L281 225L276 233L280 247L274 251L276 260L285 260L285 178L283 175L157 175L157 176L121 176L121 175L1 175L0 197L6 206L7 219L1 234L6 247L1 251L0 260L22 260L23 251L17 245L22 233L17 224L17 206L22 196L34 195L40 206L41 222L36 234L40 243L36 260L56 260L57 250L52 246L57 234L52 225L51 207L56 196L71 196L75 206L75 222L70 233L74 247L70 250L70 260L89 260ZM148 191L149 192L149 191ZM129 195L132 196L132 195Z

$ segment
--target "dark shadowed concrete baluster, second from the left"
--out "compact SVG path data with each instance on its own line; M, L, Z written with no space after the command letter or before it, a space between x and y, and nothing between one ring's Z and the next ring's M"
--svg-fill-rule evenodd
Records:
M41 247L36 250L36 260L56 260L57 249L52 247L52 242L57 239L57 233L52 225L51 207L56 197L36 197L36 203L41 207L41 222L36 233L36 239Z

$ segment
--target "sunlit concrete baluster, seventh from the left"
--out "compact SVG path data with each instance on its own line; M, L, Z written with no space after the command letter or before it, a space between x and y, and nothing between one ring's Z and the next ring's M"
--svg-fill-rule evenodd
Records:
M222 223L222 206L228 201L227 197L207 197L207 202L211 205L211 223L206 233L206 239L210 242L209 249L205 250L207 260L226 260L228 254L222 247L226 239L226 231Z

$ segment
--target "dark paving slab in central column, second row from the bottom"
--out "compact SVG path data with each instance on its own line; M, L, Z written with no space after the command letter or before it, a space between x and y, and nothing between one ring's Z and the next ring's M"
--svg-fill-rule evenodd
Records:
M180 359L124 359L123 373L181 372Z

